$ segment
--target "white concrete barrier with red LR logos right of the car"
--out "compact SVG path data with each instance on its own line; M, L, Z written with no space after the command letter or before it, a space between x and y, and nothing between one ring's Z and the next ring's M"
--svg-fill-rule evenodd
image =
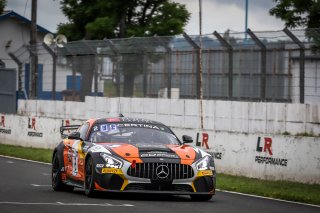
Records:
M183 129L175 132L186 133ZM214 156L218 172L320 184L319 137L208 131L194 138L194 145Z

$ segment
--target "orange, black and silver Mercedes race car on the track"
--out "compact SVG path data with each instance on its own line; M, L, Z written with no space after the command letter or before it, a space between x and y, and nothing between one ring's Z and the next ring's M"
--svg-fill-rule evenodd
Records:
M65 131L70 132L65 135ZM62 126L66 136L53 151L52 188L190 195L210 200L215 194L213 157L182 141L166 125L138 118L90 119L80 126Z

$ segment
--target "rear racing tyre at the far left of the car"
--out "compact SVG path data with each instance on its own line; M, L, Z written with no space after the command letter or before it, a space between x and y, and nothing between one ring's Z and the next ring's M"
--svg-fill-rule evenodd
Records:
M73 191L73 186L68 186L62 182L61 179L61 163L56 152L52 159L52 169L51 169L51 185L55 191Z

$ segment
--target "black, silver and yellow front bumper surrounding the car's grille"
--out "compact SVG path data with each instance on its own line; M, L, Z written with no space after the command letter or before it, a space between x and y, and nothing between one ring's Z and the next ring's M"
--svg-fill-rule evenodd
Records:
M186 179L155 180L128 175L131 164L122 169L96 168L95 189L98 191L175 194L175 195L213 195L216 188L214 171L205 170L194 173ZM196 171L192 166L193 171Z

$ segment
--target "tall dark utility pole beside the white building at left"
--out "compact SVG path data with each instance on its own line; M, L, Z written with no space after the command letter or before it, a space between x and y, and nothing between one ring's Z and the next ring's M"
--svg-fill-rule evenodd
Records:
M38 82L38 53L37 53L37 0L32 0L31 6L31 29L30 29L30 47L31 47L31 91L30 97L37 98Z

